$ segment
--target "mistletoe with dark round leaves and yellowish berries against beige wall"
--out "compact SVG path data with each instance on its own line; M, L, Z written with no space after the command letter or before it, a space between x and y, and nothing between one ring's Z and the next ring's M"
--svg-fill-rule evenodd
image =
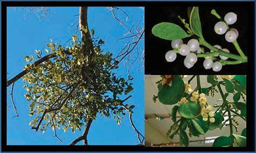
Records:
M194 78L197 86L192 90L190 82ZM171 111L173 125L167 136L173 139L178 135L180 144L187 147L188 136L204 135L208 130L229 126L230 135L217 137L213 147L246 147L246 127L240 135L233 132L234 129L238 132L239 124L234 116L246 121L246 76L237 75L231 78L231 76L208 75L207 82L211 86L202 88L199 75L192 76L188 81L183 80L179 75L161 76L161 80L157 82L158 95L154 96L153 100L156 102L158 98L165 105L175 105ZM220 105L207 100L208 96L214 97L215 92L222 97ZM227 99L230 94L233 95L232 100ZM177 113L180 119L177 119ZM225 115L228 116L226 120Z

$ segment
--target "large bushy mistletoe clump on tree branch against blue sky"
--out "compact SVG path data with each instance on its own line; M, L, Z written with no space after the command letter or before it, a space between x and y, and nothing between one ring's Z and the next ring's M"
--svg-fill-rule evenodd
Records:
M44 133L51 127L55 137L62 142L56 129L62 128L64 132L71 129L75 132L85 127L83 135L70 145L80 141L84 141L84 145L88 144L87 134L97 114L106 117L112 115L119 125L127 112L139 145L143 145L144 136L132 121L135 106L125 103L132 96L120 98L133 90L133 78L130 75L127 79L118 77L113 71L118 69L118 64L125 56L118 59L112 57L110 52L103 52L101 47L104 41L95 38L95 31L90 31L87 25L87 7L80 7L79 27L82 39L72 35L71 46L64 47L51 40L45 49L48 55L42 57L42 51L36 50L37 61L32 55L24 57L28 62L24 70L7 81L7 86L12 84L11 98L14 83L22 77L23 87L28 91L24 96L30 101L29 115L35 116L29 123L32 129ZM133 43L134 46L143 33ZM132 50L128 49L127 52ZM13 98L12 103L18 116Z

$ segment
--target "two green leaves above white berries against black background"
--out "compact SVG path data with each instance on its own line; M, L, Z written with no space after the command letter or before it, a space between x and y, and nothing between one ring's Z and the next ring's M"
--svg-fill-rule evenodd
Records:
M193 7L190 13L191 30L198 37L203 38L198 7ZM152 34L165 40L176 40L190 37L183 28L173 23L159 23L152 28Z

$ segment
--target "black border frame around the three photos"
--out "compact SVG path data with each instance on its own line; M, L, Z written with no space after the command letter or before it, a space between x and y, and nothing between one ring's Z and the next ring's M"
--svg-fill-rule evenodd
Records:
M191 2L1 2L2 3L2 151L255 151L255 113L254 103L247 106L247 119L250 126L247 126L247 147L218 148L218 147L144 147L139 145L6 145L6 7L7 6L161 6L161 5L191 5ZM193 2L193 5L210 5L216 2ZM239 5L239 3L250 3L254 12L254 2L218 2L219 5L230 3ZM146 14L145 14L146 16ZM254 20L254 14L253 14ZM253 25L254 27L254 21ZM254 29L253 29L254 33ZM254 37L251 38L254 44ZM254 45L253 45L254 48ZM253 56L248 57L247 101L254 102L254 52ZM180 74L181 75L181 74ZM250 84L250 85L249 85ZM252 85L253 84L253 85ZM247 122L247 125L249 123ZM125 139L125 138L124 138Z

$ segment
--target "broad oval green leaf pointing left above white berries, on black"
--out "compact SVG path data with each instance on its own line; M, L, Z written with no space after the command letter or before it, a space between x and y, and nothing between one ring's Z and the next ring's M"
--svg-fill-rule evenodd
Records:
M173 23L159 23L152 28L152 34L165 40L176 40L190 37L183 28Z

